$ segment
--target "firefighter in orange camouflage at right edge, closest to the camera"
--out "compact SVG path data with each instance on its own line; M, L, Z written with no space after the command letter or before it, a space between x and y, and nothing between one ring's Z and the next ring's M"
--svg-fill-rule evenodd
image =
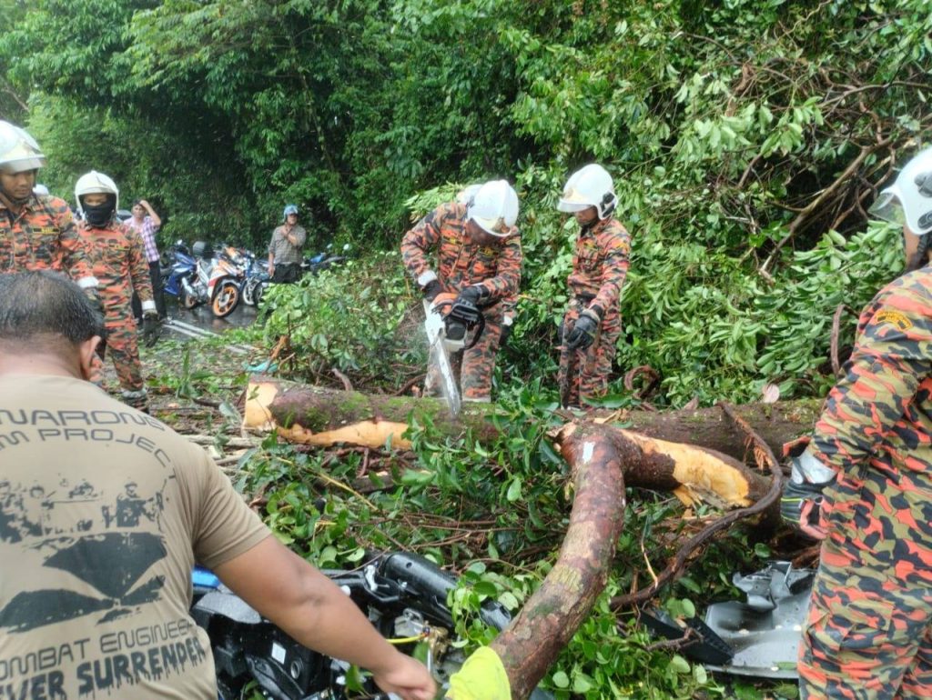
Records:
M871 211L907 243L932 235L932 149ZM784 518L823 540L803 700L932 697L932 268L920 248L861 313L846 375L792 456Z

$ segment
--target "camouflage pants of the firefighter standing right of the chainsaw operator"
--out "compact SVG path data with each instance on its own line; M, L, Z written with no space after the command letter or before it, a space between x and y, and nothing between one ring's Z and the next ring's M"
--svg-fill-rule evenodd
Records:
M563 316L564 335L576 324L583 308L576 300L569 303L569 309ZM572 372L569 377L569 405L578 406L583 398L603 397L609 390L611 364L615 359L616 344L622 334L622 316L618 309L610 309L602 319L596 341L585 350L569 351L560 338L560 369L557 381L563 386L569 365Z

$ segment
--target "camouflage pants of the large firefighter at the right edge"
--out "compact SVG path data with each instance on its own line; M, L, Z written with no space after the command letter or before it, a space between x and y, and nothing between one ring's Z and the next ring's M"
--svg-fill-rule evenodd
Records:
M802 700L932 697L932 490L921 475L888 474L871 468L827 491Z

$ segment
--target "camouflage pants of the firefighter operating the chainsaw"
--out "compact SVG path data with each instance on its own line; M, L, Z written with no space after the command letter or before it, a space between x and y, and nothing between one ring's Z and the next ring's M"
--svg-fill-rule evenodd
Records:
M492 374L495 371L495 356L499 351L501 336L501 304L495 303L482 310L486 316L486 330L479 342L468 350L461 350L450 357L450 366L459 384L464 401L491 401ZM444 383L440 370L431 361L424 382L424 396L439 397Z

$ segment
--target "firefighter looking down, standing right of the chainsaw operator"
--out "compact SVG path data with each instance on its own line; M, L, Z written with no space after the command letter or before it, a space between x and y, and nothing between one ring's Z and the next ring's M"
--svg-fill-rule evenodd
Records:
M622 334L619 312L628 272L631 236L612 216L618 204L605 168L588 165L574 172L556 208L580 224L569 274L569 308L560 326L559 385L564 406L604 396L609 388L616 343Z

